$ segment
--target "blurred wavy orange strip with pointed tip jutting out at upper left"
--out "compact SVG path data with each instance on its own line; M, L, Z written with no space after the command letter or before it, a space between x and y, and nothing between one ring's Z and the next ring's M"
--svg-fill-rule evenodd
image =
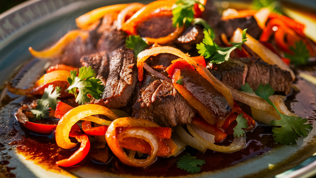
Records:
M58 54L61 54L64 47L67 46L67 44L70 41L75 40L77 37L81 37L84 41L88 36L89 32L87 31L72 30L68 32L66 35L64 35L61 39L57 41L56 44L54 44L52 47L48 49L45 49L43 51L35 51L32 47L29 47L28 50L34 57L38 59L49 59L57 56Z

